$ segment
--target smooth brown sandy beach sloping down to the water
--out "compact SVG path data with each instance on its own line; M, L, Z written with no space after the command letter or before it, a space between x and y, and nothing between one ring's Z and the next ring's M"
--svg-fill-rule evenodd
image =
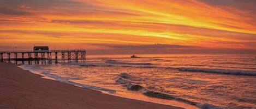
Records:
M99 91L43 79L11 63L0 63L0 108L178 109L169 105L115 97Z

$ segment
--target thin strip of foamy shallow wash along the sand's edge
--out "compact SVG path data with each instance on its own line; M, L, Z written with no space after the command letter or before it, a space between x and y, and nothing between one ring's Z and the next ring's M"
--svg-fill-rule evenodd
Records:
M189 104L187 102L175 100L175 99L160 99L160 98L151 97L148 95L138 94L138 93L137 94L129 93L127 95L126 94L127 92L122 92L122 91L116 92L115 90L112 90L112 89L109 89L106 87L104 88L104 87L98 87L98 86L94 86L94 85L81 84L79 82L62 80L62 79L60 79L61 77L58 77L58 75L54 75L54 74L52 75L49 72L45 73L43 70L32 69L30 67L27 68L27 67L24 67L23 65L17 66L17 67L20 67L23 70L28 70L29 72L34 73L34 74L38 74L38 75L42 76L41 78L44 78L44 79L50 79L50 80L62 82L64 84L73 85L76 87L88 88L88 89L92 89L95 91L100 91L104 94L114 95L116 97L127 98L127 99L132 99L132 100L141 100L141 101L146 101L146 102L152 102L154 104L170 105L170 106L181 107L181 108L200 109L199 107L197 107L195 105Z

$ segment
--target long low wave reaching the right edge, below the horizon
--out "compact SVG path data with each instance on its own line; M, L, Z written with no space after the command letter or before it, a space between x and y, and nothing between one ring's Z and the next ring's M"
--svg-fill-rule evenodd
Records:
M247 70L228 70L228 69L204 69L204 68L178 68L180 71L186 72L205 72L205 73L222 73L235 75L252 75L256 76L256 72Z

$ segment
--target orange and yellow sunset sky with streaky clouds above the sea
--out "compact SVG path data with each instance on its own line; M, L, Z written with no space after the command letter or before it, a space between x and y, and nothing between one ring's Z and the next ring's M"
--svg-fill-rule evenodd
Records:
M0 50L34 45L92 53L256 50L253 0L0 0L0 4Z

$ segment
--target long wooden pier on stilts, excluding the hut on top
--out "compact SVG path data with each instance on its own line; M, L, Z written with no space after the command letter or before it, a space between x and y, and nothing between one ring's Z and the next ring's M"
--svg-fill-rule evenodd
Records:
M61 55L61 60L58 59L58 54ZM54 55L52 59L52 55ZM4 58L5 57L5 58ZM47 51L13 51L13 52L1 52L0 62L4 60L14 60L15 63L20 61L22 64L51 64L64 62L85 63L86 62L86 50L47 50Z

